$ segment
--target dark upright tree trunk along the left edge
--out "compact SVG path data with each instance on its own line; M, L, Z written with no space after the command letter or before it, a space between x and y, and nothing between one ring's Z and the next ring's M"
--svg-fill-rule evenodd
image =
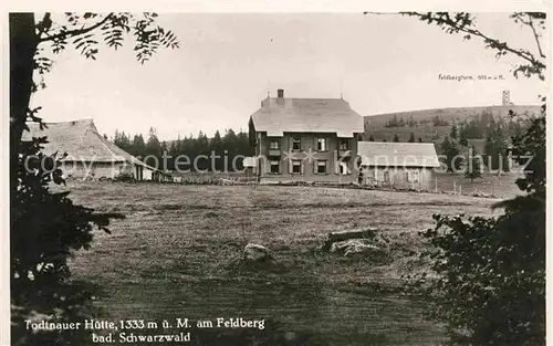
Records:
M17 191L21 135L33 90L38 39L34 13L10 13L10 199Z

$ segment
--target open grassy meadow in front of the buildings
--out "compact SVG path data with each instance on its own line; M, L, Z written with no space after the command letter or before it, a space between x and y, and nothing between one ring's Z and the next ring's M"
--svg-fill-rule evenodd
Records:
M72 260L97 284L98 318L265 318L264 331L191 329L192 345L438 345L425 302L395 293L416 271L431 214L489 216L493 199L316 187L70 182L77 203L119 211ZM327 233L376 227L389 258L320 250ZM246 268L247 242L278 266ZM240 340L240 342L237 342ZM156 344L157 345L157 344Z

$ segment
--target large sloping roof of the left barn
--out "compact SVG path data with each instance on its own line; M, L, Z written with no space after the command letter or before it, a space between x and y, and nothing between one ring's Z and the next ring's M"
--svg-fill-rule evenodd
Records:
M93 119L45 124L48 128L43 129L36 123L28 124L29 132L23 132L23 140L46 136L49 143L43 145L46 155L66 153L64 161L126 161L155 169L105 139Z

